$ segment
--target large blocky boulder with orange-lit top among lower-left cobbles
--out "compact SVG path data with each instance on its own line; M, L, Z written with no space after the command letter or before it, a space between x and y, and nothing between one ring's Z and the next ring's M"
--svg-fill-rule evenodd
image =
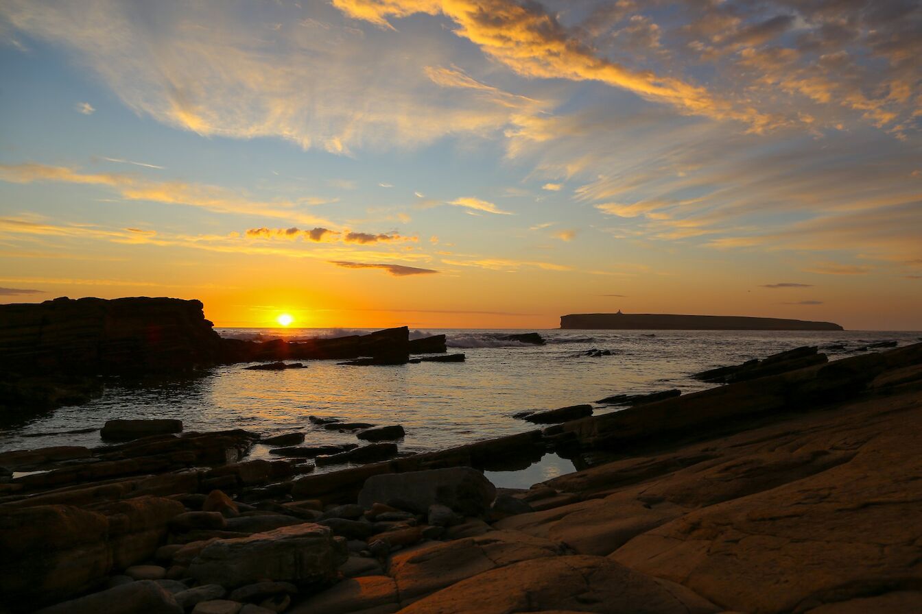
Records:
M264 578L311 582L334 577L346 560L344 550L329 528L301 524L214 541L195 557L189 573L199 582L227 587Z

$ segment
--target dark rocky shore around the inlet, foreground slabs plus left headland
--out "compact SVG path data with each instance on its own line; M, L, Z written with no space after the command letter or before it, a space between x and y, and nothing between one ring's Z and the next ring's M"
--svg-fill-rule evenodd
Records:
M270 441L169 415L0 452L0 612L922 611L922 343L896 345L708 368L691 394L573 389L510 416L532 430L426 454L398 452L398 424L312 416ZM452 355L406 327L242 342L198 301L57 299L0 306L0 407L78 405L105 377ZM313 446L325 428L355 442ZM256 443L290 452L247 458ZM522 489L484 475L549 452L577 470Z

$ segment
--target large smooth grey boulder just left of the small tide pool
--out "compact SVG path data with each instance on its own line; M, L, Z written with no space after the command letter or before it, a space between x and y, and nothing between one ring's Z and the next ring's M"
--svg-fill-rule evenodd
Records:
M359 493L359 504L394 504L417 514L443 504L465 516L480 516L495 496L496 488L477 469L452 467L372 476Z

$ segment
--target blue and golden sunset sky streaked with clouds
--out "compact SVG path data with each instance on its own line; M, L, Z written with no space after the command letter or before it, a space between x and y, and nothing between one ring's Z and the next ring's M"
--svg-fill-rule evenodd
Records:
M0 4L0 301L922 330L916 2Z

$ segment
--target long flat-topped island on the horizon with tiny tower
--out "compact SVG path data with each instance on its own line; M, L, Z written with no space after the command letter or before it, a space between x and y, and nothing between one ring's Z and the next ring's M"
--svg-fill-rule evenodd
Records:
M746 316L684 316L665 313L576 313L561 316L573 330L845 330L833 322Z

